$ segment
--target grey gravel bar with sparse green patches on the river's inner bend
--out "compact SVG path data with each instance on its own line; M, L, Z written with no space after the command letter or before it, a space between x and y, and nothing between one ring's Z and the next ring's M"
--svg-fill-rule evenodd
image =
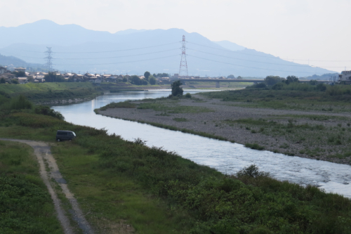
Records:
M133 101L100 115L212 134L286 155L351 164L351 114L245 108L194 95ZM125 107L128 108L125 108ZM122 107L122 108L121 108ZM255 144L255 145L253 145Z

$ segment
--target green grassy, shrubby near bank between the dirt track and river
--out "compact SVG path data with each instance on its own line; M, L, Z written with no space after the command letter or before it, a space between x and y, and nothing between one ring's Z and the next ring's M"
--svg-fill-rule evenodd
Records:
M1 98L0 105L8 101ZM7 138L53 142L56 129L77 133L76 141L55 144L52 151L69 189L100 233L116 232L126 223L136 233L351 231L349 199L274 180L255 167L225 176L175 153L148 148L140 139L124 141L30 108L3 110L4 122L0 136Z

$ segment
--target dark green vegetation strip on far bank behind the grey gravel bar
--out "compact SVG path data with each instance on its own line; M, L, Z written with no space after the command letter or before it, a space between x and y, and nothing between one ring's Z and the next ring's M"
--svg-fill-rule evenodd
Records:
M280 82L266 88L258 88L256 85L237 91L207 92L201 93L201 95L230 102L227 105L249 108L325 112L349 112L351 110L351 87L345 85L312 85L298 82L285 84Z

